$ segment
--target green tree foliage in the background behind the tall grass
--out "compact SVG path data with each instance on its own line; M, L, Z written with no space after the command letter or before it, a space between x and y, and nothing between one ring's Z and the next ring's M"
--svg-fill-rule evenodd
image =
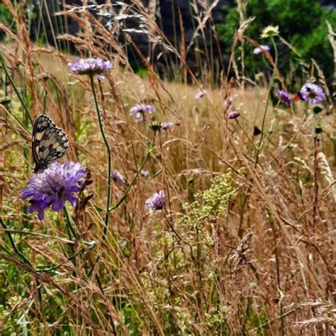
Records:
M230 52L233 35L239 27L237 8L225 6L224 22L217 26L218 35L226 52ZM327 24L336 25L336 10L326 9L316 0L249 0L245 18L255 17L245 31L245 35L266 44L267 40L259 38L262 28L279 26L280 34L296 48L302 59L314 58L322 67L325 76L331 77L333 69L332 48L327 38ZM252 54L253 47L245 45L245 65L247 74L252 76L256 68L262 65L262 56ZM289 70L289 61L297 58L286 46L280 47L281 70Z

